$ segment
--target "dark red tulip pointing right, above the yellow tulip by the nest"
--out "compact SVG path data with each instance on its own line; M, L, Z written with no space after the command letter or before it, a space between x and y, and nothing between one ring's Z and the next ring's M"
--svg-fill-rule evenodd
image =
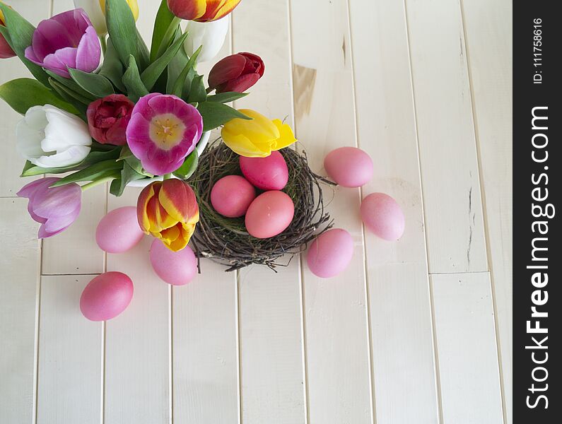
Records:
M217 93L244 93L264 75L265 66L257 54L238 53L225 57L209 73L209 88Z

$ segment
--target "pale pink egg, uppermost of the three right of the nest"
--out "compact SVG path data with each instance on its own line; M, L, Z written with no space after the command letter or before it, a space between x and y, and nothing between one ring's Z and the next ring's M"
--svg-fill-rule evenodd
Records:
M373 178L373 160L356 147L340 147L324 158L329 177L342 187L361 187Z

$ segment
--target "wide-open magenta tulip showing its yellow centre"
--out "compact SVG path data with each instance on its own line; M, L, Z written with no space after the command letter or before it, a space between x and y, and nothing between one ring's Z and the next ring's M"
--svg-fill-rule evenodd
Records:
M174 172L194 151L203 133L199 111L175 95L151 93L136 103L127 126L127 144L154 175Z

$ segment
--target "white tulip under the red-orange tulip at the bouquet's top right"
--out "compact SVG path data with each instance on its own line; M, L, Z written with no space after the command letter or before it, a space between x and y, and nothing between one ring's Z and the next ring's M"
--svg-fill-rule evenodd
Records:
M223 48L229 23L230 16L214 20L213 22L195 22L194 20L189 20L185 28L189 35L184 43L187 56L191 57L199 47L203 46L197 57L197 61L203 62L214 59Z

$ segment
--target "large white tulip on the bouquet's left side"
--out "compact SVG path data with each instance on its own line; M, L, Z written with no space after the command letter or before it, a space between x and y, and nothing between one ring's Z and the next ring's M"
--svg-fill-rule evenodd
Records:
M16 139L18 153L40 167L76 165L92 144L85 122L52 105L30 107L16 126Z

